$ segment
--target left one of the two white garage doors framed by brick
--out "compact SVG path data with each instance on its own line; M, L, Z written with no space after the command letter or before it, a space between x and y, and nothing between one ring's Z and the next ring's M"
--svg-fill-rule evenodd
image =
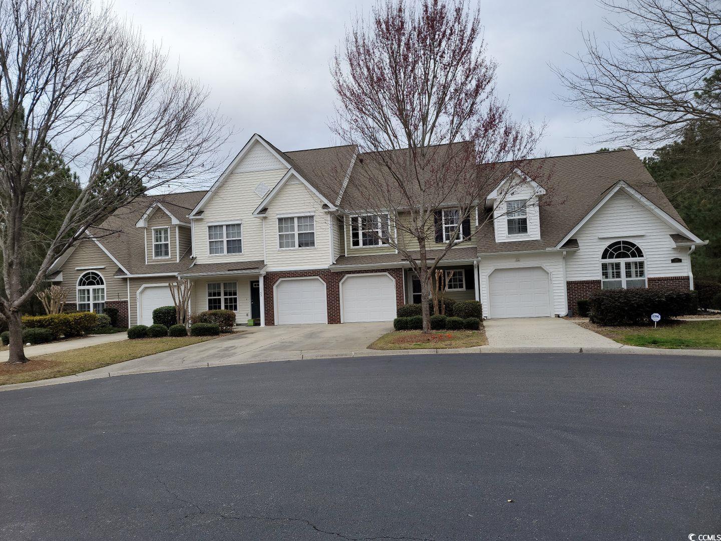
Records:
M279 281L275 301L278 325L328 322L325 283L320 278Z

